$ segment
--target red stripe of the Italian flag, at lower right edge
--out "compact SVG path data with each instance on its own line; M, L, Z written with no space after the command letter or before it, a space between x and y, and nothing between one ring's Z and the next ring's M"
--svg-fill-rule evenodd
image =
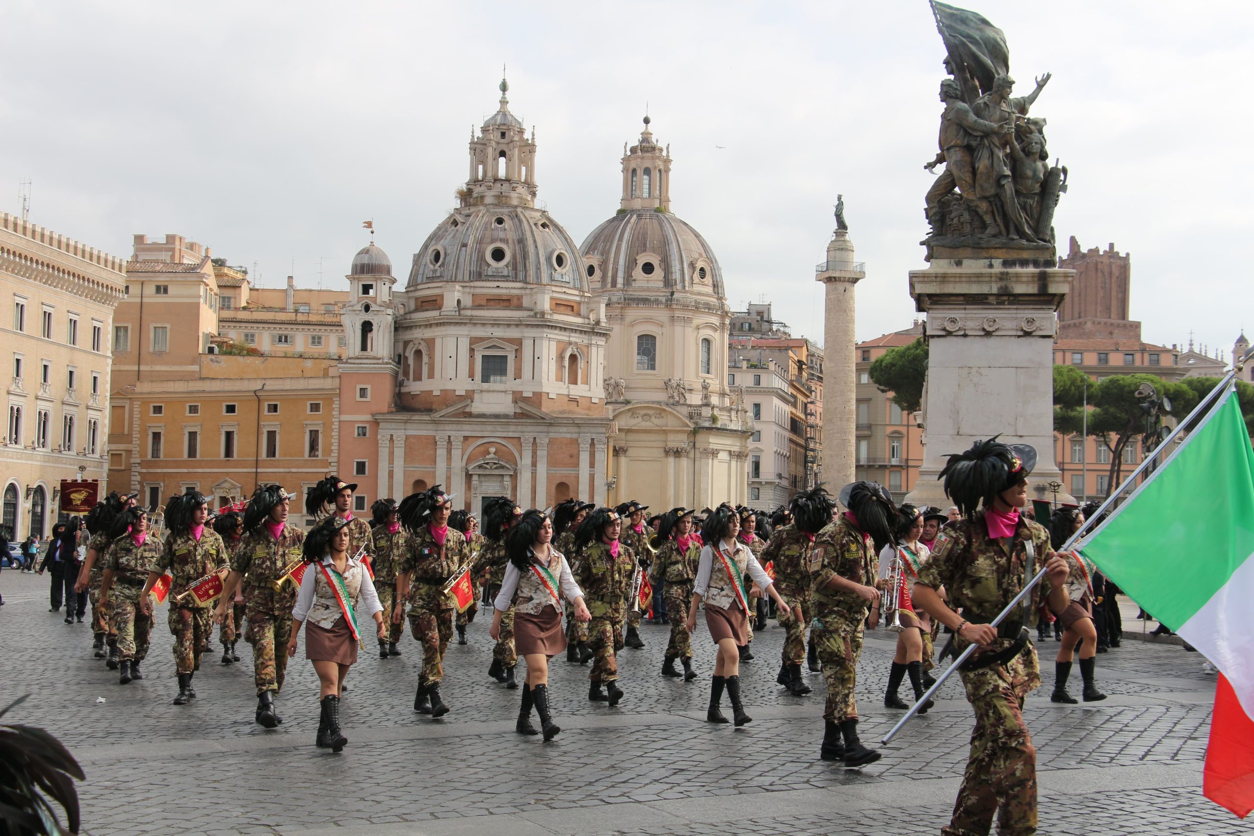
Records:
M1240 818L1254 810L1254 719L1241 708L1223 673L1215 686L1201 791Z

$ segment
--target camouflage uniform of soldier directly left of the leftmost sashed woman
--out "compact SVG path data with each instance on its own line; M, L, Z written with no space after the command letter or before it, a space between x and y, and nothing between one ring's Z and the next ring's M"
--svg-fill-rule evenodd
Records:
M252 673L257 696L278 693L287 673L287 640L292 637L292 608L298 587L280 584L283 569L301 558L305 531L287 524L276 540L262 523L245 534L231 556L231 570L245 573L243 605L248 625L243 638L252 645Z

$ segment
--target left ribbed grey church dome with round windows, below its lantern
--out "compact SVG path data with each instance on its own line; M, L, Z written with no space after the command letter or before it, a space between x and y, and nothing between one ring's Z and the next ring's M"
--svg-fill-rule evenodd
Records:
M542 209L455 209L414 253L409 290L424 282L527 282L588 291L574 239Z

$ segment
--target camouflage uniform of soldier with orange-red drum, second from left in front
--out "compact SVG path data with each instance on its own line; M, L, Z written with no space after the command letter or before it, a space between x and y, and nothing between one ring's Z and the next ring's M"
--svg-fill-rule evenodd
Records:
M227 546L222 536L204 526L201 539L191 534L166 538L154 572L169 570L173 580L169 584L169 632L174 637L174 672L192 673L201 669L201 653L213 632L213 605L198 604L193 595L177 600L176 595L211 572L228 562ZM217 603L217 602L213 602Z

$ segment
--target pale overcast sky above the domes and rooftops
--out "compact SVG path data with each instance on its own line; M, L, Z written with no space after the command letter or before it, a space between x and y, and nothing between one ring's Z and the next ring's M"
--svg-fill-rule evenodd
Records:
M969 8L1006 31L1020 94L1053 73L1032 113L1071 174L1060 253L1070 236L1130 252L1144 338L1193 331L1228 357L1254 336L1251 6ZM714 247L735 308L772 301L821 341L814 266L841 192L867 262L859 340L914 316L944 56L924 0L9 0L4 18L0 211L29 179L33 221L115 254L176 232L262 286L321 271L346 287L374 218L404 282L505 63L510 108L535 125L539 199L576 241L618 208L647 102L672 209Z

